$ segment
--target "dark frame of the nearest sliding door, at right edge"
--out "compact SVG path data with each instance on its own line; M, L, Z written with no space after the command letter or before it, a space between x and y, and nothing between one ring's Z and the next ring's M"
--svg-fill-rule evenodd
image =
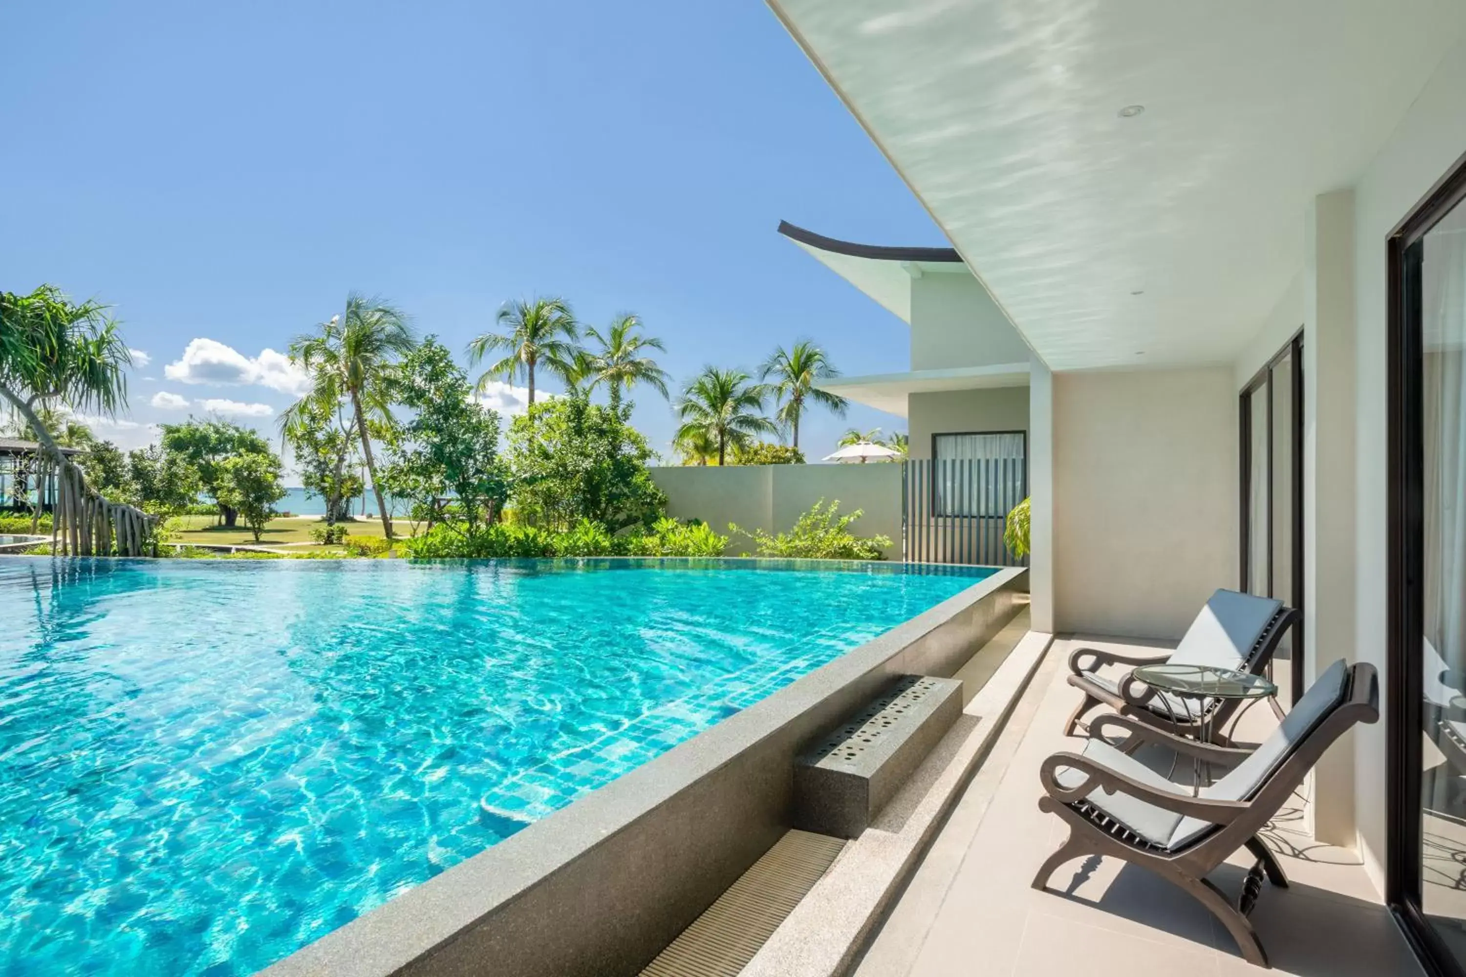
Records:
M1460 157L1385 242L1387 333L1387 841L1385 902L1421 964L1466 977L1421 907L1421 696L1425 630L1425 416L1421 256L1425 234L1466 202Z

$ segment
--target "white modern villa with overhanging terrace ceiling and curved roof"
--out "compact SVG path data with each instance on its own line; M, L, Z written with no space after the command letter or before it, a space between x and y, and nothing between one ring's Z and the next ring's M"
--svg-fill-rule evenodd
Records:
M1466 973L1421 845L1466 858L1466 3L770 4L954 248L784 229L910 324L840 393L916 457L1028 432L1035 630L1174 639L1242 586L1303 609L1300 681L1375 664L1312 831Z

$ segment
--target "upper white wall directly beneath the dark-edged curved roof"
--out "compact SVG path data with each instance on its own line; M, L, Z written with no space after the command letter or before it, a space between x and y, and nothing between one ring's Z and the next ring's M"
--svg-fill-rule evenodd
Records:
M1028 362L1028 344L966 270L913 278L910 322L912 369Z

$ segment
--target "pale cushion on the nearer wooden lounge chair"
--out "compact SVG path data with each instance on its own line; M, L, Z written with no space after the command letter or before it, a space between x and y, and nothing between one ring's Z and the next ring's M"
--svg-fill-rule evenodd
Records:
M1347 684L1349 666L1343 659L1338 659L1328 666L1328 671L1318 677L1318 681L1314 683L1308 693L1283 718L1283 722L1272 731L1272 735L1253 750L1248 759L1239 763L1236 769L1211 787L1202 788L1201 797L1223 801L1250 800L1318 724L1343 703ZM1104 740L1091 738L1085 744L1083 756L1146 787L1182 795L1190 792L1189 788L1173 784ZM1058 779L1060 785L1069 788L1079 787L1085 776L1085 773L1073 768L1063 768L1056 772L1056 779ZM1186 847L1215 826L1198 817L1183 817L1164 807L1157 807L1149 801L1142 801L1119 791L1111 794L1105 790L1094 790L1085 800L1152 845L1171 851Z

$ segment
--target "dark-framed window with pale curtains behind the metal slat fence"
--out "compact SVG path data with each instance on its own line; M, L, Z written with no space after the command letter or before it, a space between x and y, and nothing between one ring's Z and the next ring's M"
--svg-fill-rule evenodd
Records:
M1028 435L938 434L932 438L935 516L1004 519L1028 494Z

